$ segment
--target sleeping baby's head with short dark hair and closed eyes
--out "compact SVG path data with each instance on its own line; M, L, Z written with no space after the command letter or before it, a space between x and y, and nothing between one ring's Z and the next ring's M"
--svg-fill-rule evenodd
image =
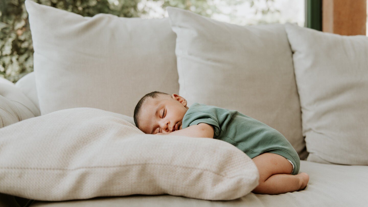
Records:
M168 134L182 129L187 100L177 94L153 91L142 97L134 109L134 123L146 134Z

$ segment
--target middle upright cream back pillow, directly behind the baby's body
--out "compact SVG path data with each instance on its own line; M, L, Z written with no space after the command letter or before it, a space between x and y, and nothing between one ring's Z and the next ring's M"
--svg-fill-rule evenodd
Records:
M179 94L238 110L280 131L307 157L284 25L239 26L168 7L177 35Z

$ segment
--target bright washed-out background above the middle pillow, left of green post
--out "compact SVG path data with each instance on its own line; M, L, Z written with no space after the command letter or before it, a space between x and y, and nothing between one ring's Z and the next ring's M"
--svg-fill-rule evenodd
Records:
M138 9L147 12L141 16L142 18L163 18L168 17L164 7L184 7L184 9L215 20L238 25L293 22L304 26L305 21L304 0L208 0L195 2L187 0L183 1L181 5L168 0L142 0L138 4ZM203 10L203 8L207 9Z

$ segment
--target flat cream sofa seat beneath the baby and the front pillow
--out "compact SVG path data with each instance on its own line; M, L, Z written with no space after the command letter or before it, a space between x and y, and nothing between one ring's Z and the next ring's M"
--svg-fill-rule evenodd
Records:
M279 195L250 193L231 201L208 201L180 196L97 197L60 202L35 201L32 207L57 206L129 206L129 207L274 207L274 206L367 206L368 166L333 165L300 161L300 172L307 172L309 183L304 190Z

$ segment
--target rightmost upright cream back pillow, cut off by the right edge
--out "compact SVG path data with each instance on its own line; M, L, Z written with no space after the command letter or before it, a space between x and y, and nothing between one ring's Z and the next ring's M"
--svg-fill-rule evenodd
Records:
M286 25L308 161L368 165L368 37Z

